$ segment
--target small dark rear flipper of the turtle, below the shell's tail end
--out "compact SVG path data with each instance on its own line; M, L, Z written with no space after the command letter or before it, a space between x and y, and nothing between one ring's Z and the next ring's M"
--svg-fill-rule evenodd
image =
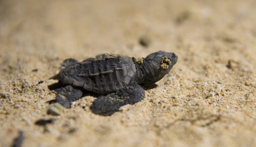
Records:
M81 90L75 89L70 85L55 89L55 91L57 92L56 102L60 103L65 108L70 108L71 102L76 101L83 96Z

